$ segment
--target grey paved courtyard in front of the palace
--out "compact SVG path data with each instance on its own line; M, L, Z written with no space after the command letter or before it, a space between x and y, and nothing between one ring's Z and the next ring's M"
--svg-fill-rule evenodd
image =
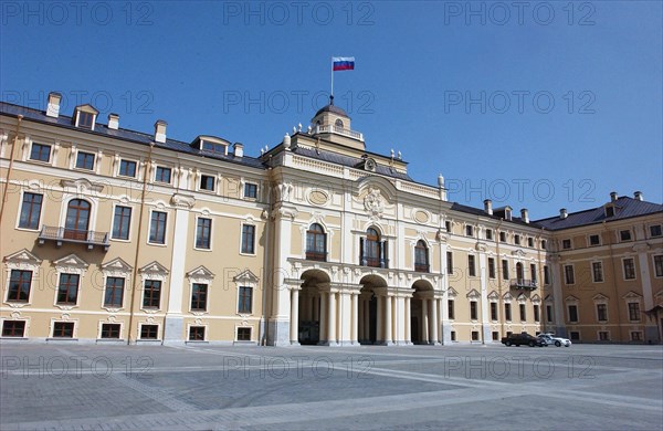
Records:
M661 346L0 345L0 429L663 429Z

